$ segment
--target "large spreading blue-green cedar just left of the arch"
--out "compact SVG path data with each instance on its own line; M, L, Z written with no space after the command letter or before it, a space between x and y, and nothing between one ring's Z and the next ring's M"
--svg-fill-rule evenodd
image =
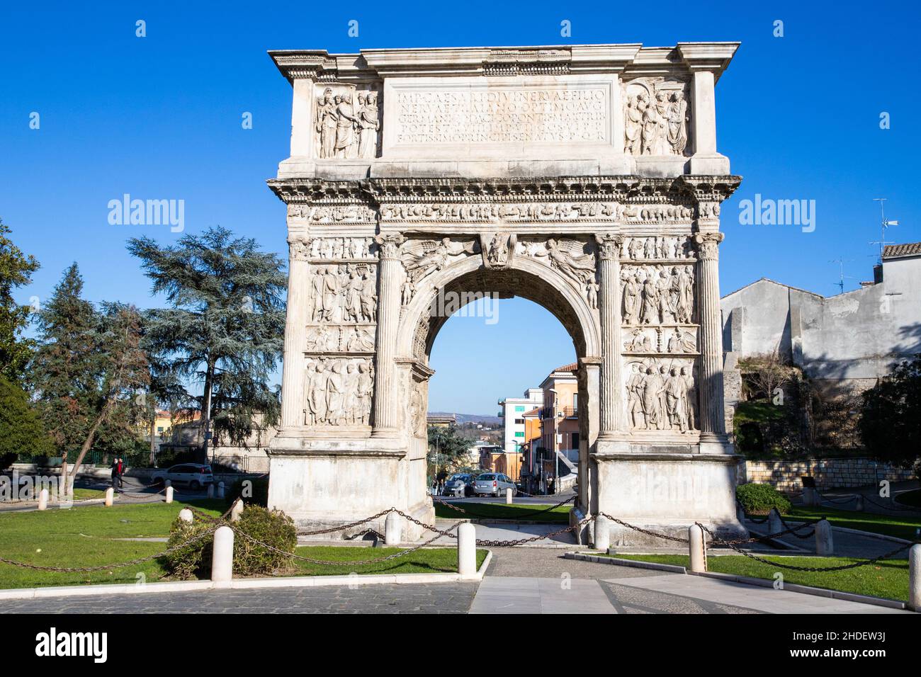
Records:
M212 425L218 441L226 436L243 446L259 423L276 425L279 389L268 380L285 335L281 259L227 228L183 236L173 247L133 238L128 251L153 280L152 293L169 302L170 308L147 312L145 345L201 410L204 458Z

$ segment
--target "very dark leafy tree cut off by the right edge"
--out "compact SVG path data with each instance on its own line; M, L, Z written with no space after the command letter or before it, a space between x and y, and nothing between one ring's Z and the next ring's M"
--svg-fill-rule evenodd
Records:
M921 355L863 393L860 438L880 461L909 468L921 454Z

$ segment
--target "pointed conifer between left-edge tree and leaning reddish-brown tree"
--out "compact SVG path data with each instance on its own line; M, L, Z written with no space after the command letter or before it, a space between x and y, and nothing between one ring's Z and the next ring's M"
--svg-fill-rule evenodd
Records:
M87 438L98 401L99 317L82 293L83 278L73 263L39 312L39 347L29 369L45 429L62 451Z

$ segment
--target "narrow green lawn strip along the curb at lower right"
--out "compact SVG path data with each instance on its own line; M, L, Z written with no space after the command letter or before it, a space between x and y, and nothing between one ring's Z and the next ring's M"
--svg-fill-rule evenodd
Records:
M678 566L690 566L686 554L616 554L621 559L633 559L641 562L659 562ZM841 566L859 560L849 557L774 557L765 559L783 562L791 566ZM884 597L890 600L906 601L908 599L908 560L889 559L875 565L858 566L845 571L791 571L779 566L769 566L740 554L724 554L706 558L709 571L722 574L735 574L750 578L767 578L773 580L776 572L784 575L787 583L799 583L815 588L857 592L861 595Z

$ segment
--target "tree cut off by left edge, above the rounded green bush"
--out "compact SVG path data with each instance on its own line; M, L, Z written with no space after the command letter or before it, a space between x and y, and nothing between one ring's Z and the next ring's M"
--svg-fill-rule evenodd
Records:
M31 309L13 299L13 290L32 281L39 262L6 237L10 232L0 220L0 375L18 381L29 364L35 342L22 336Z

